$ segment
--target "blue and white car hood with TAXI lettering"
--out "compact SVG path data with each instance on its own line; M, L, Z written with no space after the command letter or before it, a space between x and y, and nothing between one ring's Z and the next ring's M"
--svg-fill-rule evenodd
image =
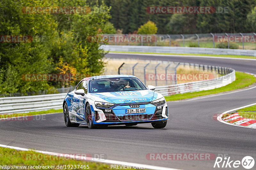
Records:
M92 96L99 97L109 103L139 103L151 102L157 98L156 92L152 90L134 90L134 91L118 91L118 92L103 92L90 93Z

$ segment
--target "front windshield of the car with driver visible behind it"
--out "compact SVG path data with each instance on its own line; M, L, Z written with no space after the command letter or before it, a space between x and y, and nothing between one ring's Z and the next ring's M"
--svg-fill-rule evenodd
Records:
M144 84L134 77L116 77L104 78L89 81L89 92L115 92L115 91L132 91L132 90L146 90Z

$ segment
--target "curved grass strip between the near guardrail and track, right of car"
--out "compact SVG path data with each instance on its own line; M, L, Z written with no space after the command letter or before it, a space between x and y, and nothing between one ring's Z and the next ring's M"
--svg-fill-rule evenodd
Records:
M198 92L192 92L192 93L184 93L184 94L176 94L171 96L166 96L166 101L174 101L174 100L182 100L182 99L188 99L198 96L205 96L205 95L211 95L216 94L220 92L226 92L236 89L241 89L244 87L247 87L255 82L255 77L249 74L245 74L242 72L236 72L236 80L232 83L212 90L204 90L204 91L198 91Z

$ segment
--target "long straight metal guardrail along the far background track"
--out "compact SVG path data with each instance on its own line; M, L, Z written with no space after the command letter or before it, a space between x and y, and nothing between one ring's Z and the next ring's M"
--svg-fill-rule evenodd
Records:
M112 46L101 45L104 51L111 52L147 52L147 53L184 53L184 54L225 54L246 55L256 57L256 50L240 50L225 48L178 47L178 46Z

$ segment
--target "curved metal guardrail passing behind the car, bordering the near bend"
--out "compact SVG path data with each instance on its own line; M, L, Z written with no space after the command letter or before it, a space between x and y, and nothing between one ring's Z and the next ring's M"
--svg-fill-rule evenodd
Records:
M191 63L183 63L184 65L196 65ZM197 64L200 67L200 65ZM201 66L205 68L205 66ZM208 69L208 66L206 66ZM218 73L226 75L207 81L194 81L188 83L174 84L169 86L157 86L155 91L164 96L195 92L202 90L215 89L225 86L236 79L235 70L226 67L209 67ZM28 113L30 111L41 111L49 109L61 109L62 103L67 93L37 95L37 96L20 96L20 97L2 97L0 98L0 114L12 113Z

